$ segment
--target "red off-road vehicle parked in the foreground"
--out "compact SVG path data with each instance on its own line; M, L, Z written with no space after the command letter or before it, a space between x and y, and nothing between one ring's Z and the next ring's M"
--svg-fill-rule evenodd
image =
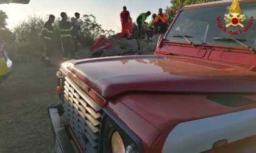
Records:
M48 107L57 151L255 152L255 8L186 6L155 55L63 63Z

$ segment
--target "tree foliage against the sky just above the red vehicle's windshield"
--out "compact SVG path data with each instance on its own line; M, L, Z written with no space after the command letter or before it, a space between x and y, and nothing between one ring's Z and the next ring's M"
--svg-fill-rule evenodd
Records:
M166 20L167 22L171 22L172 18L176 15L177 11L180 10L185 5L191 4L201 4L203 2L212 2L218 0L171 0L171 7L166 7Z

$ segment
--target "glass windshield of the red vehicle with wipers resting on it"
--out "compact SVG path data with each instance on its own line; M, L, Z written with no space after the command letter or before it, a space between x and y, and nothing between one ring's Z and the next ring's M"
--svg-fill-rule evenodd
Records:
M188 42L184 38L185 36L195 44L241 47L237 41L227 39L235 38L243 44L255 48L256 3L240 4L241 13L236 16L230 13L230 5L182 10L166 35L166 40Z

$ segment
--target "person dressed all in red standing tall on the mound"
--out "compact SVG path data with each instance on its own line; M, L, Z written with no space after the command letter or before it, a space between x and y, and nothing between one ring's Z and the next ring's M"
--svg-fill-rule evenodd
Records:
M126 33L128 33L127 39L130 39L132 36L132 18L130 17L130 12L127 11L126 6L123 7L123 11L120 13L120 19L122 32L119 33L116 39L123 37Z

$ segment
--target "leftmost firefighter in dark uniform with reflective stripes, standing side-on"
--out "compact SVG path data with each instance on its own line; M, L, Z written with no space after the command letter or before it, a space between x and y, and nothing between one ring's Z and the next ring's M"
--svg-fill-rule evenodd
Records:
M54 20L55 20L55 16L49 15L49 19L44 23L43 29L41 31L41 36L43 38L44 49L45 49L45 51L42 54L42 57L44 58L46 67L53 66L50 60L51 60L52 51L54 49L53 40L52 40L53 32L54 32L52 23L54 23Z

